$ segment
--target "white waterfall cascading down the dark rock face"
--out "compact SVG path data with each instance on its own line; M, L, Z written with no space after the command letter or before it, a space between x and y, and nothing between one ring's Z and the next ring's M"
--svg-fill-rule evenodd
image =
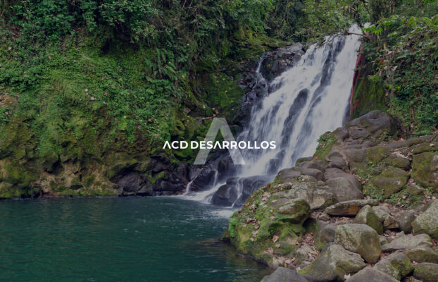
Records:
M350 32L361 33L361 29L355 25ZM211 201L212 195L223 188L223 195L234 197L230 200L232 205L242 203L242 179L258 176L259 182L251 185L260 185L260 176L269 176L265 181L268 182L280 169L294 166L296 159L310 157L320 135L342 126L360 44L358 35L326 37L323 44L308 47L292 68L269 85L260 73L262 57L256 75L267 85L266 94L253 106L249 126L237 140L259 144L263 140L276 141L277 148L243 151L246 166L237 175L241 179L235 181L233 177L226 185L215 183L212 190L201 192L196 198L199 200L202 195L202 199Z

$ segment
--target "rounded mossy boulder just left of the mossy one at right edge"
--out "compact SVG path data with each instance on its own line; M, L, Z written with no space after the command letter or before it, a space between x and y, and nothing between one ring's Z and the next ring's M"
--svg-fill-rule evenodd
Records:
M384 198L399 192L408 182L408 173L400 168L389 166L384 168L378 176L370 178L370 183Z

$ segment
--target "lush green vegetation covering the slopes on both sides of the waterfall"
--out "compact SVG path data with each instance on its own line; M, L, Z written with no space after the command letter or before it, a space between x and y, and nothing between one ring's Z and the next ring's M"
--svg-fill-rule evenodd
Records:
M430 133L434 15L437 1L425 0L0 1L0 182L27 187L69 159L94 167L154 154L163 140L203 137L216 114L239 123L236 81L249 63L352 23L372 23L359 104L373 99L408 134Z

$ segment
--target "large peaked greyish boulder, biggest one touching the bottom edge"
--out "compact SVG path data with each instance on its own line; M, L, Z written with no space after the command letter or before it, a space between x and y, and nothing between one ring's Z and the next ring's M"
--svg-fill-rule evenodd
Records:
M309 281L344 281L346 275L355 274L365 267L360 255L332 244L311 264L299 270Z

